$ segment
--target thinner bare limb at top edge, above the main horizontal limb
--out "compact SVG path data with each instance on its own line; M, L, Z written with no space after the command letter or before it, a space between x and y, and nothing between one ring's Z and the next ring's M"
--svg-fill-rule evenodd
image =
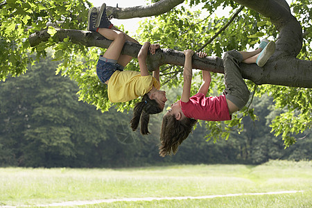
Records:
M107 17L116 19L130 19L135 17L151 17L162 15L184 0L162 0L148 6L135 6L129 8L114 8L107 6Z

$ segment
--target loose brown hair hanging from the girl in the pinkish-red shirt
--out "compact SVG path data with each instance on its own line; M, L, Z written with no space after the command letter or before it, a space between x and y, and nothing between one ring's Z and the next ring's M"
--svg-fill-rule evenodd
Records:
M178 121L174 115L164 115L160 132L159 155L165 157L171 152L177 153L177 148L184 139L187 139L196 123L196 119L184 118Z

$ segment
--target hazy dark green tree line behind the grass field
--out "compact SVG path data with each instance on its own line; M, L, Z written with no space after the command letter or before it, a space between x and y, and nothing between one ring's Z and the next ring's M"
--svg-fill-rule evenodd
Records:
M295 146L284 149L281 138L270 133L268 123L281 113L270 96L254 98L257 118L245 117L241 133L231 131L229 139L211 139L209 122L197 125L177 155L159 157L159 129L162 114L151 116L151 134L132 132L132 112L111 108L102 113L78 102L77 84L55 76L58 62L40 61L18 78L0 83L0 165L31 167L117 167L171 163L259 164L268 159L311 159L311 131ZM170 105L179 89L168 89ZM220 125L223 125L220 122ZM209 129L209 127L208 127ZM216 141L216 143L214 143Z

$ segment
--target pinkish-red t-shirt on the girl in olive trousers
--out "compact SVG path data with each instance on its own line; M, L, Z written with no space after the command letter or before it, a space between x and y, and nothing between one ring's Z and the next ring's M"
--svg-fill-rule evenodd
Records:
M227 121L232 119L224 95L205 97L204 94L198 93L191 96L187 103L181 101L181 108L188 118L203 121Z

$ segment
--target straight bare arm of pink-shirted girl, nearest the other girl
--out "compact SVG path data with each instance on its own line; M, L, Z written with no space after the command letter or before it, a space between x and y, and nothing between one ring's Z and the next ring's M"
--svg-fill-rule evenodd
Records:
M184 52L185 61L183 69L183 91L181 96L181 101L187 103L191 95L191 83L192 83L192 56L194 51L188 49Z

